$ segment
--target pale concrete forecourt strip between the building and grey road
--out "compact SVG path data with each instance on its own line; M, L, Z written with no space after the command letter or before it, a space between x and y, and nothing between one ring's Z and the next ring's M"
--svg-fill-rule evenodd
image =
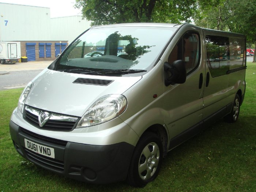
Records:
M10 71L30 71L45 69L53 61L29 61L26 63L2 64L0 65L0 75L8 74Z

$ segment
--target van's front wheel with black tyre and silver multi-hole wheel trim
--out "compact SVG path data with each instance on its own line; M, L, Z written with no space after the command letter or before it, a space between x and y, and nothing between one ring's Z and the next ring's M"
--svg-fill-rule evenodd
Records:
M134 187L144 187L153 181L160 169L162 153L159 137L151 132L145 133L135 147L127 177L128 183Z

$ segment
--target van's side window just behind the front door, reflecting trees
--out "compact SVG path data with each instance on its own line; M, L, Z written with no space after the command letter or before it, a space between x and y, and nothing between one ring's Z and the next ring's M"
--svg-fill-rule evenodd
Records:
M225 75L229 70L229 38L206 35L206 56L211 76Z

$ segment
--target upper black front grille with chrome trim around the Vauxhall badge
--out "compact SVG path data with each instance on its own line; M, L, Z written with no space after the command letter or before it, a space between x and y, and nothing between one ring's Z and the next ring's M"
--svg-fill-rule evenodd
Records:
M42 111L36 108L32 108L30 106L26 106L24 112L24 118L29 123L39 126L39 118L40 113ZM65 116L56 113L49 113L51 117L49 120L42 126L45 130L50 131L72 131L75 128L78 117Z

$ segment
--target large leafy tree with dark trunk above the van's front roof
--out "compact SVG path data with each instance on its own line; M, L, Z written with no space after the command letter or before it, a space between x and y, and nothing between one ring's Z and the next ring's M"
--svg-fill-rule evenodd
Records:
M91 25L113 23L191 22L196 0L76 0Z

